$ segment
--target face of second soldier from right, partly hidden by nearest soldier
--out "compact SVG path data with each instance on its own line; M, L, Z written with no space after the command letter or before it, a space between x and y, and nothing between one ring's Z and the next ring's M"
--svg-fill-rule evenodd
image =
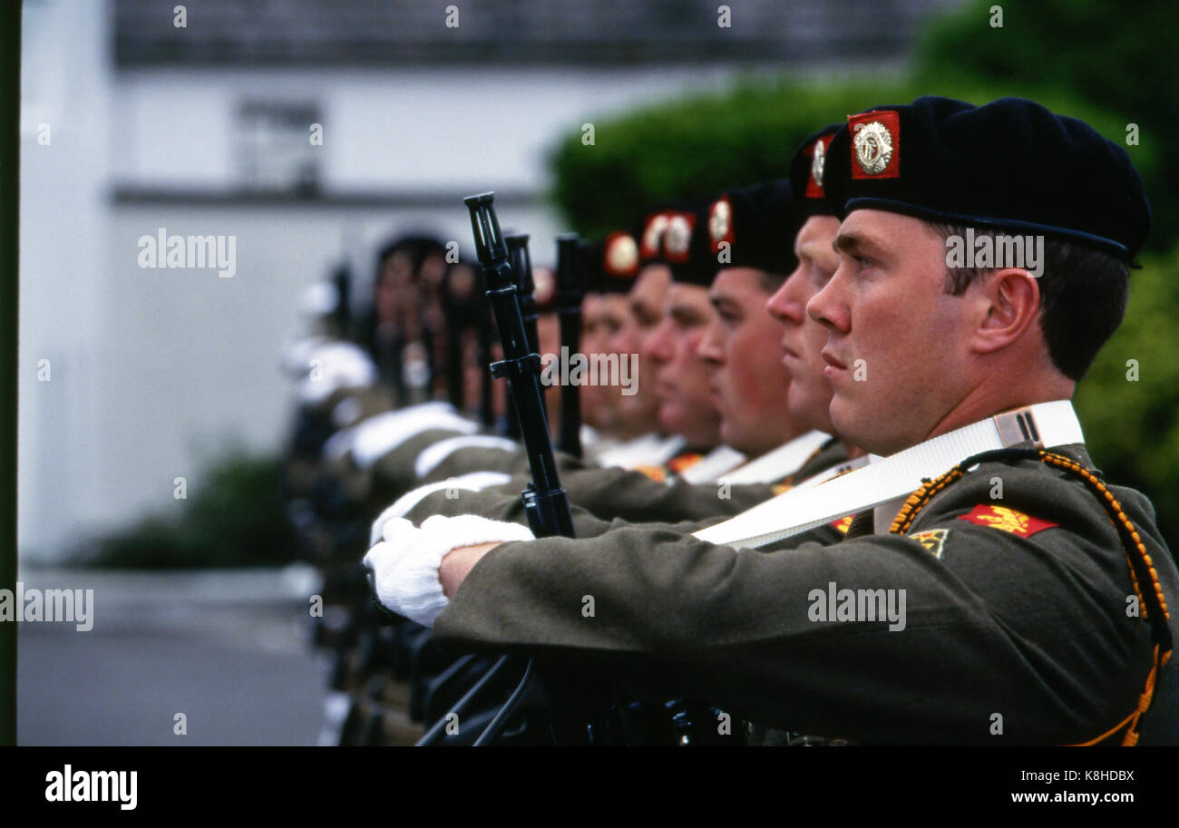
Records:
M783 324L782 363L790 374L790 413L801 421L829 434L831 425L831 383L823 374L826 360L826 328L806 315L806 303L831 278L839 257L831 249L839 231L834 216L811 216L795 237L798 267L782 283L766 304Z

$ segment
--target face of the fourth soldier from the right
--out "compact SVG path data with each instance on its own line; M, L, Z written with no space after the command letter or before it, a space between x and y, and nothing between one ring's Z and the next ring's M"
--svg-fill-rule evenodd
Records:
M673 283L667 289L664 320L645 343L654 366L659 425L681 434L693 446L716 446L720 439L720 414L710 388L711 367L698 353L712 318L707 289Z

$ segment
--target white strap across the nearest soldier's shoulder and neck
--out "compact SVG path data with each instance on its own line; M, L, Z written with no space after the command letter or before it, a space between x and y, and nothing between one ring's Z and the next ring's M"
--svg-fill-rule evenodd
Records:
M855 472L822 486L795 487L696 537L735 547L764 546L909 494L923 479L943 474L973 454L1026 440L1040 446L1085 442L1072 402L1056 400L1003 412L888 458L872 456Z

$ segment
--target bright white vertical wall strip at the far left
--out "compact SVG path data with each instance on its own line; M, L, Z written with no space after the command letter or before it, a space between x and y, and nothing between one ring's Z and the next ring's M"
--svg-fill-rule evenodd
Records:
M24 8L18 547L47 557L118 502L103 486L97 416L107 394L106 20L104 0Z

